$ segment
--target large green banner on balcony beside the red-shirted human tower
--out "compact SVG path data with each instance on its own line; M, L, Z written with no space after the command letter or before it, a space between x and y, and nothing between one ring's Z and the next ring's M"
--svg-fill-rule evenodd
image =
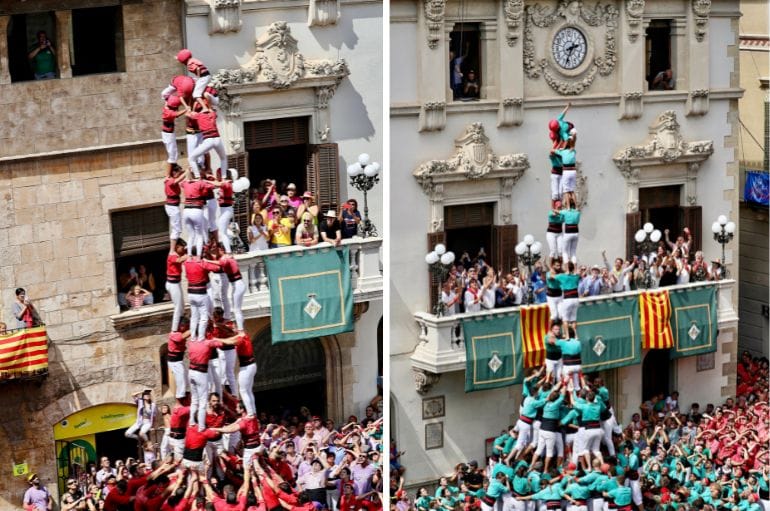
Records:
M265 258L273 344L353 330L347 247Z

